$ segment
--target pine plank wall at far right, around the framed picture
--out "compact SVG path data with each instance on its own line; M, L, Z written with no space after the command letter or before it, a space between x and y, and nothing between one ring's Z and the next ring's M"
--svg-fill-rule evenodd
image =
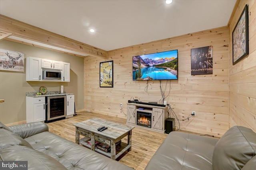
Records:
M232 65L232 31L248 4L249 55ZM245 126L256 132L256 1L241 0L230 18L230 127Z

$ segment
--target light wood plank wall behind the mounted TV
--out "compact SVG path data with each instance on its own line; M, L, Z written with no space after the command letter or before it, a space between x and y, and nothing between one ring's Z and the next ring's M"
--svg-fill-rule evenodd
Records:
M163 88L167 84L166 95L170 88L167 103L180 119L182 130L220 137L229 129L228 41L226 26L108 51L107 60L88 56L84 59L84 108L126 118L126 103L132 97L143 102L159 101L159 81L149 81L147 92L146 81L132 81L132 56L178 49L178 80L162 81ZM190 50L209 45L213 46L213 74L191 76ZM100 88L99 63L111 60L114 88ZM192 111L196 116L182 121Z

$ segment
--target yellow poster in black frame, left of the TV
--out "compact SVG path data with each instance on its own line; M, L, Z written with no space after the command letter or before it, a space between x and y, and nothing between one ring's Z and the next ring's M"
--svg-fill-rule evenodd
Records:
M113 87L113 61L100 63L100 87Z

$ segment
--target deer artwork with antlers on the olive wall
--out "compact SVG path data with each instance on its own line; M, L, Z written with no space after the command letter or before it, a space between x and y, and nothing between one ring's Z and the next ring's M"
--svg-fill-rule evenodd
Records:
M0 49L0 70L24 72L24 54Z

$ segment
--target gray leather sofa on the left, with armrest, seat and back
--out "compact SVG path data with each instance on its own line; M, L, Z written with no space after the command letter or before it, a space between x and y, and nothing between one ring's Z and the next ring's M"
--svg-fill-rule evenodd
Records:
M6 127L0 123L0 158L28 161L30 170L132 170L132 168L50 133L42 122Z

